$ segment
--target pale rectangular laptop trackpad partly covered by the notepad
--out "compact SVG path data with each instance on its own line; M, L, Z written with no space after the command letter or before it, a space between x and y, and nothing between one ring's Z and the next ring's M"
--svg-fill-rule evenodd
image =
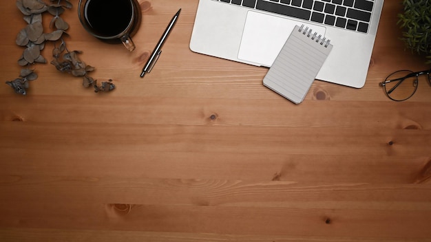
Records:
M295 25L305 25L322 35L326 32L322 26L249 11L238 58L271 67Z

